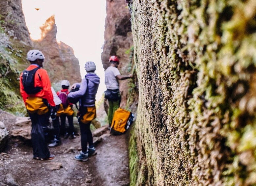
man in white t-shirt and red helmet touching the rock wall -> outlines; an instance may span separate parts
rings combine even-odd
[[[118,109],[121,102],[121,95],[119,91],[118,80],[125,80],[132,78],[132,74],[121,75],[118,70],[119,59],[117,56],[111,56],[109,58],[110,66],[105,70],[105,85],[107,90],[105,91],[105,98],[108,100],[108,123],[109,127],[113,119],[114,112]]]

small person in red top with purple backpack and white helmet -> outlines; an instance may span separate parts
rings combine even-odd
[[[73,104],[68,100],[69,94],[69,86],[70,82],[66,79],[61,81],[62,89],[57,92],[57,95],[60,97],[62,101],[62,105],[64,107],[64,113],[60,115],[61,126],[60,133],[64,136],[64,139],[67,139],[70,136],[70,139],[74,139],[76,136],[74,135],[74,124],[73,124]],[[69,128],[66,129],[66,117],[68,118]]]

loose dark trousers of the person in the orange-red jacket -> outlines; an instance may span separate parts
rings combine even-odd
[[[31,139],[34,158],[48,158],[50,151],[45,138],[47,136],[49,114],[38,115],[29,113],[29,116],[32,122]]]

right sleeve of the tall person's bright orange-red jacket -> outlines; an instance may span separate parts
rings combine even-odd
[[[53,95],[52,95],[52,92],[51,92],[51,82],[50,82],[50,78],[48,76],[47,71],[40,68],[38,70],[38,73],[41,76],[45,99],[47,99],[50,106],[53,106],[53,107],[56,106],[54,101],[53,101]]]

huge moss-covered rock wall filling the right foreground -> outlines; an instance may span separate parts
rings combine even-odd
[[[255,17],[254,0],[133,0],[131,185],[256,184]]]

